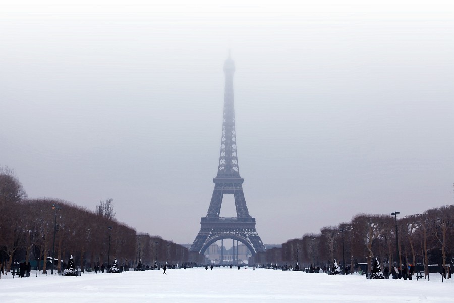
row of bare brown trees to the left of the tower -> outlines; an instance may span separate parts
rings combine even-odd
[[[113,218],[112,199],[100,201],[95,212],[58,199],[27,199],[13,172],[0,167],[0,264],[7,273],[12,262],[36,260],[45,272],[53,253],[56,260],[73,255],[84,268],[112,263],[134,267],[138,259],[185,262],[181,245],[137,234]],[[157,260],[156,260],[157,257]],[[109,260],[108,260],[109,259]],[[60,271],[62,262],[56,263]]]

